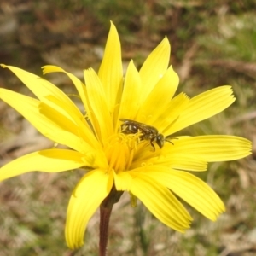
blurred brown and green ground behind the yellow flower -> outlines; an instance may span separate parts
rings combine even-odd
[[[165,36],[171,63],[180,77],[178,91],[195,96],[231,84],[236,102],[224,113],[192,125],[184,134],[232,134],[255,142],[256,3],[254,0],[68,0],[0,3],[0,62],[42,75],[54,64],[83,79],[83,69],[99,67],[109,20],[117,26],[124,67],[140,67]],[[47,75],[67,93],[63,75]],[[0,70],[0,87],[26,95],[20,80]],[[52,143],[0,102],[0,166]],[[194,209],[194,222],[178,234],[143,205],[123,196],[113,209],[108,255],[247,256],[256,254],[255,148],[244,160],[209,165],[200,177],[224,200],[227,211],[212,223]],[[91,219],[84,247],[70,251],[64,238],[69,196],[81,172],[32,172],[0,183],[0,256],[97,255],[99,216]]]

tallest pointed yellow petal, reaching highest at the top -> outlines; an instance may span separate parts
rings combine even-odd
[[[112,22],[98,75],[107,97],[108,111],[112,115],[119,103],[123,82],[121,45],[118,32]]]

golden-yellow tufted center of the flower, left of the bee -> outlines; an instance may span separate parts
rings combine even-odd
[[[110,137],[104,147],[109,168],[115,172],[129,170],[138,143],[137,134],[119,133]]]

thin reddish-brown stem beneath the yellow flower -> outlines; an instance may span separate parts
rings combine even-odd
[[[102,201],[100,207],[100,242],[99,242],[99,255],[107,255],[108,245],[108,225],[112,212],[113,204],[119,201],[124,191],[117,191],[113,186],[108,196]]]

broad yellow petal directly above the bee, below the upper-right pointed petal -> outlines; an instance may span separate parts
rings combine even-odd
[[[177,90],[178,76],[172,66],[169,67],[163,77],[151,90],[137,115],[137,120],[143,123],[153,124],[159,118],[159,113],[166,109],[171,102],[172,96]]]

